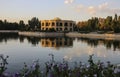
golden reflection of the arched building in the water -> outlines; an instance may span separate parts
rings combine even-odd
[[[42,47],[72,47],[73,39],[68,37],[58,37],[58,38],[42,38],[41,39]]]

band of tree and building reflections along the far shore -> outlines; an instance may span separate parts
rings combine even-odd
[[[30,37],[30,36],[19,36],[17,33],[0,33],[0,42],[6,42],[9,40],[19,40],[20,43],[24,43],[27,40],[30,44],[36,46],[41,44],[42,47],[73,47],[75,38],[70,37],[52,37],[52,38],[41,38],[41,37]],[[120,41],[110,39],[90,39],[90,38],[77,38],[78,42],[87,43],[91,47],[97,47],[99,45],[105,46],[107,49],[113,49],[116,51],[120,50]]]

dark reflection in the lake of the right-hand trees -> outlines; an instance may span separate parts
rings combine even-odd
[[[113,49],[113,51],[116,51],[116,49],[120,50],[120,41],[117,40],[110,40],[110,39],[90,39],[90,38],[77,38],[78,41],[87,43],[91,47],[97,47],[98,45],[104,45],[107,49]]]

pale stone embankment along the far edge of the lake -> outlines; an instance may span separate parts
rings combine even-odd
[[[105,40],[120,40],[120,34],[98,34],[98,33],[78,33],[78,32],[21,32],[21,31],[5,31],[2,30],[0,33],[18,33],[22,36],[33,36],[33,37],[72,37],[72,38],[90,38],[90,39],[105,39]]]

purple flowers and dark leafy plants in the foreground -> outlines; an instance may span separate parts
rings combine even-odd
[[[75,66],[71,68],[65,60],[56,62],[54,55],[49,54],[51,60],[45,63],[45,70],[40,70],[39,60],[29,67],[24,63],[24,67],[20,72],[15,74],[5,73],[7,67],[7,58],[0,56],[0,77],[120,77],[120,67],[111,64],[109,61],[105,64],[101,61],[95,63],[93,55],[89,56],[88,64],[75,62]]]

